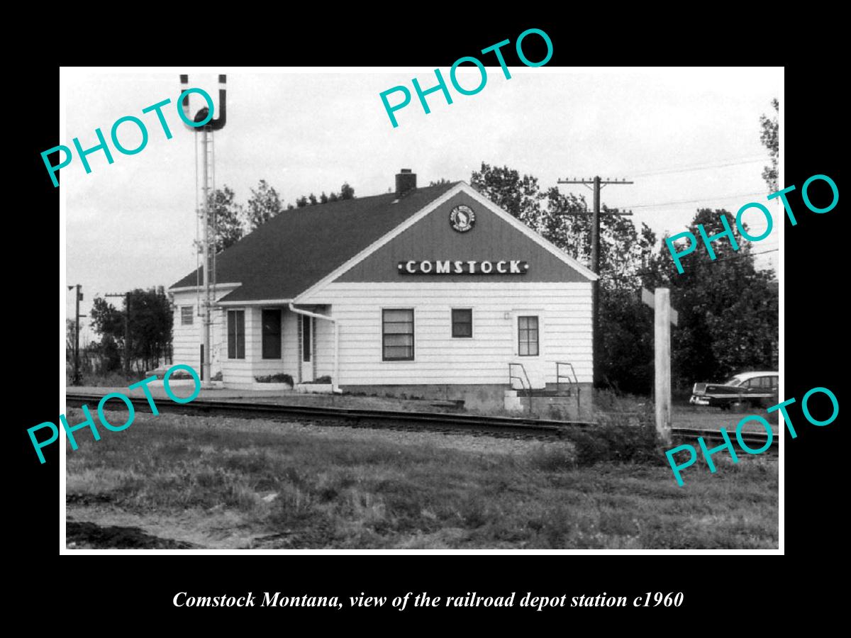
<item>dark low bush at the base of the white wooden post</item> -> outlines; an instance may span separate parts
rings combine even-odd
[[[597,425],[576,430],[569,438],[576,446],[576,464],[580,467],[602,461],[665,464],[665,453],[648,414],[601,416]]]

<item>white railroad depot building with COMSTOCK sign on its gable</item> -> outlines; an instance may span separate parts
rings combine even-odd
[[[590,404],[596,275],[465,182],[417,188],[403,169],[395,192],[283,211],[216,261],[212,374],[228,388],[288,373],[517,408],[506,390],[528,383]],[[200,374],[199,281],[170,292],[174,363]]]

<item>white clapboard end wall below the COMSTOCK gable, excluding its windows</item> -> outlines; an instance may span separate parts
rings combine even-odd
[[[508,363],[518,362],[541,387],[556,382],[557,361],[591,382],[588,282],[331,283],[303,302],[330,305],[340,323],[340,385],[507,385]],[[414,361],[381,360],[382,308],[414,308]],[[452,338],[453,308],[473,310],[472,339]],[[517,355],[517,316],[526,314],[539,316],[540,356]],[[319,375],[333,367],[333,339],[318,322]]]

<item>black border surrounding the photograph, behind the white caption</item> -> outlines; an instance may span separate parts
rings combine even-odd
[[[420,19],[409,18],[408,12],[424,14]],[[763,14],[764,11],[764,14]],[[214,52],[203,64],[214,66],[221,61],[237,60],[243,64],[326,64],[326,65],[415,65],[449,66],[463,54],[470,54],[505,37],[516,37],[528,26],[538,26],[547,31],[555,45],[551,66],[566,65],[620,65],[625,62],[647,65],[715,64],[786,64],[785,83],[785,185],[802,184],[812,174],[828,174],[835,179],[839,190],[840,155],[845,152],[843,141],[843,115],[837,78],[844,70],[838,66],[838,56],[831,43],[843,43],[843,37],[833,37],[829,26],[822,20],[817,26],[802,20],[789,25],[788,20],[774,20],[768,8],[751,10],[737,6],[735,10],[721,7],[701,12],[700,21],[686,20],[683,16],[665,15],[664,28],[658,31],[642,30],[637,26],[653,20],[648,8],[623,9],[620,20],[609,20],[602,26],[602,16],[594,8],[575,8],[571,13],[527,15],[526,9],[512,14],[511,18],[487,22],[464,22],[454,14],[444,14],[423,6],[404,6],[386,9],[381,16],[386,25],[376,20],[363,24],[363,12],[348,16],[340,13],[336,20],[305,23],[301,18],[294,25],[258,24],[256,15],[249,19],[235,17],[229,29],[237,43],[251,39],[251,46],[241,48],[243,53]],[[427,19],[431,14],[433,20]],[[357,17],[359,20],[353,22]],[[611,16],[607,16],[611,18]],[[822,16],[824,17],[824,16]],[[839,22],[837,20],[837,22]],[[65,42],[66,30],[87,32],[97,29],[91,24],[74,26],[62,21],[63,33],[48,30],[40,34],[42,42]],[[357,24],[357,29],[352,25]],[[57,25],[58,26],[58,25]],[[771,28],[772,26],[776,28]],[[321,28],[320,28],[321,27]],[[604,29],[604,30],[603,30]],[[591,35],[583,35],[591,31]],[[788,31],[799,31],[790,35]],[[62,64],[91,64],[92,55],[107,56],[106,64],[121,66],[168,65],[175,50],[175,33],[171,28],[155,29],[150,41],[134,53],[77,48],[63,53]],[[283,37],[282,37],[283,34]],[[744,34],[749,34],[745,37]],[[56,36],[56,37],[51,37]],[[263,44],[266,42],[266,44]],[[475,43],[470,45],[468,43]],[[228,47],[230,49],[230,47]],[[676,56],[676,57],[674,57]],[[750,56],[750,57],[747,57]],[[157,59],[158,57],[158,59]],[[791,60],[794,58],[794,60]],[[98,60],[100,61],[100,60]],[[202,60],[191,60],[201,63]],[[31,64],[38,64],[31,62]],[[509,60],[509,64],[512,62]],[[842,75],[841,75],[842,74]],[[44,60],[40,68],[31,67],[12,86],[28,86],[31,77],[40,80],[38,100],[20,110],[15,134],[21,137],[20,146],[28,149],[16,155],[23,158],[21,172],[29,182],[26,191],[14,188],[14,196],[22,197],[17,210],[37,214],[15,214],[12,219],[14,236],[43,237],[43,221],[58,209],[58,189],[46,181],[43,164],[38,153],[57,144],[54,122],[58,103],[58,70],[53,60]],[[792,199],[800,209],[800,200]],[[814,215],[806,211],[798,216],[799,224],[792,228],[785,224],[785,280],[782,284],[785,297],[785,389],[786,396],[800,397],[814,385],[833,390],[840,402],[844,377],[840,348],[844,342],[845,311],[843,288],[847,272],[841,244],[846,233],[840,206],[830,214]],[[23,303],[18,305],[12,296],[18,292],[8,289],[8,301],[18,309],[43,307],[45,297],[40,284],[43,274],[53,281],[53,266],[49,277],[47,262],[24,261],[26,288]],[[36,261],[36,263],[32,263]],[[60,267],[62,265],[60,264]],[[18,271],[18,269],[16,269]],[[20,271],[18,271],[20,272]],[[53,298],[55,299],[55,298]],[[27,312],[25,334],[27,350],[15,358],[14,374],[25,379],[24,387],[15,387],[18,401],[11,406],[12,431],[19,436],[19,464],[12,483],[15,521],[18,523],[14,545],[15,554],[26,557],[24,567],[15,568],[12,575],[14,587],[20,598],[28,599],[25,606],[31,611],[43,612],[49,603],[44,602],[47,590],[59,583],[60,599],[89,604],[95,596],[98,613],[106,618],[116,613],[133,618],[134,627],[173,627],[174,624],[191,624],[194,629],[216,627],[228,619],[237,618],[240,629],[259,618],[246,610],[182,610],[171,605],[172,596],[180,590],[191,589],[219,595],[223,592],[238,594],[242,590],[255,593],[262,590],[288,590],[293,593],[322,595],[349,595],[368,591],[370,595],[397,595],[408,590],[429,590],[437,595],[477,590],[479,593],[532,590],[536,593],[562,592],[568,595],[601,593],[638,595],[647,590],[684,591],[686,603],[677,610],[628,612],[627,622],[634,628],[637,623],[648,628],[671,630],[671,622],[682,619],[676,630],[690,631],[697,618],[710,618],[718,629],[728,631],[724,625],[731,615],[744,609],[752,611],[748,625],[760,628],[782,621],[786,614],[815,612],[820,616],[832,607],[831,598],[837,598],[840,588],[827,577],[826,566],[841,555],[844,543],[842,527],[837,519],[844,502],[845,476],[842,461],[831,452],[842,451],[841,420],[830,426],[816,428],[802,424],[798,437],[786,436],[785,446],[785,553],[790,561],[782,564],[777,557],[742,555],[643,555],[643,556],[589,556],[589,555],[449,555],[449,556],[378,556],[378,555],[276,555],[262,559],[243,556],[203,556],[191,560],[191,566],[164,565],[172,557],[155,560],[134,560],[132,566],[117,561],[133,560],[124,556],[97,558],[89,556],[60,557],[58,555],[57,494],[59,479],[58,447],[45,449],[47,463],[38,464],[32,454],[26,427],[40,421],[56,418],[58,407],[53,400],[53,390],[45,395],[53,368],[56,334],[51,311]],[[45,338],[46,335],[46,338]],[[21,396],[23,395],[23,396]],[[799,410],[791,410],[796,424],[802,421]],[[99,562],[98,568],[88,564],[72,565],[70,561]],[[57,560],[59,559],[59,560]],[[831,560],[833,559],[833,560]],[[237,562],[238,561],[238,562]],[[769,563],[769,561],[771,561]],[[806,564],[801,564],[806,561]],[[106,566],[104,563],[108,563]],[[106,568],[104,568],[106,567]],[[116,569],[120,568],[120,571]],[[821,570],[821,571],[820,571]],[[812,590],[817,589],[817,592]],[[87,594],[88,592],[88,594]],[[113,595],[115,593],[118,595]],[[796,596],[801,596],[800,600]],[[786,604],[780,604],[780,601]],[[89,601],[89,602],[87,602]],[[812,606],[812,607],[811,607]],[[818,606],[814,609],[814,606]],[[25,607],[25,608],[26,608]],[[23,611],[23,610],[21,610]],[[535,620],[556,620],[559,628],[573,628],[562,624],[577,618],[590,621],[595,627],[605,620],[617,623],[624,618],[620,613],[601,610],[571,610],[561,612],[524,612],[512,608],[506,613],[482,610],[420,610],[412,618],[407,612],[393,612],[382,608],[357,610],[345,616],[334,616],[311,610],[297,612],[300,618],[321,618],[323,628],[334,618],[351,623],[359,619],[369,626],[388,626],[396,632],[408,629],[410,620],[427,627],[435,619],[443,630],[456,625],[445,624],[445,618],[455,617],[462,622],[475,618],[499,624],[500,629],[528,629]],[[263,618],[275,622],[277,629],[289,628],[293,612],[276,610]],[[569,615],[565,616],[567,613]],[[241,615],[242,614],[242,615]],[[250,615],[249,615],[250,614]],[[366,615],[364,615],[366,614]],[[673,614],[676,618],[671,618]],[[377,624],[376,615],[390,620]],[[768,618],[767,618],[768,617]],[[69,624],[83,622],[83,614],[67,617]],[[105,618],[105,619],[106,619]],[[100,618],[97,619],[99,625]],[[407,621],[407,622],[406,622]],[[89,622],[92,622],[90,619]],[[125,621],[126,622],[126,621]],[[163,625],[168,622],[168,625]],[[375,623],[375,624],[373,624]],[[373,624],[373,625],[370,625]],[[252,625],[248,625],[252,626]],[[462,625],[458,625],[460,627]],[[477,629],[484,625],[477,624]],[[611,625],[608,625],[611,628]],[[722,629],[723,628],[723,629]],[[114,627],[112,628],[114,629]]]

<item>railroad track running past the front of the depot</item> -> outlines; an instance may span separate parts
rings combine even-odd
[[[101,396],[70,392],[66,394],[69,407],[93,406]],[[139,412],[151,412],[146,398],[129,397]],[[110,409],[123,409],[123,402],[111,402]],[[346,425],[359,428],[379,428],[405,431],[432,431],[441,434],[471,434],[513,439],[538,439],[558,441],[568,438],[571,431],[592,427],[591,421],[556,421],[529,419],[528,417],[492,417],[479,414],[456,414],[434,412],[404,412],[393,410],[368,410],[350,407],[291,406],[260,402],[227,402],[196,399],[191,403],[174,403],[158,399],[157,410],[163,413],[196,414],[201,416],[222,415],[241,419],[298,419],[323,425]],[[718,430],[694,428],[672,428],[677,441],[696,443],[698,436],[705,441],[723,441]],[[765,436],[743,434],[742,440],[748,447],[758,449],[765,444]],[[777,451],[774,436],[770,452]]]

